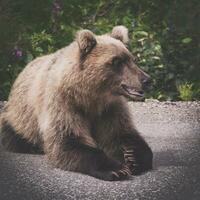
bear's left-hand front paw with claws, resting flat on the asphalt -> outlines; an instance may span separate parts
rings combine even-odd
[[[125,180],[131,175],[131,170],[127,165],[122,165],[121,169],[112,171],[113,180]]]

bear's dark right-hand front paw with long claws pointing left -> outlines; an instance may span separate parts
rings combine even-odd
[[[152,169],[152,150],[136,130],[121,136],[121,147],[125,163],[133,174]]]

